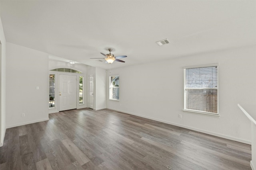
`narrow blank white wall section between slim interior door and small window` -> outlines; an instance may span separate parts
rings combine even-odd
[[[96,110],[106,109],[106,70],[96,67]]]

